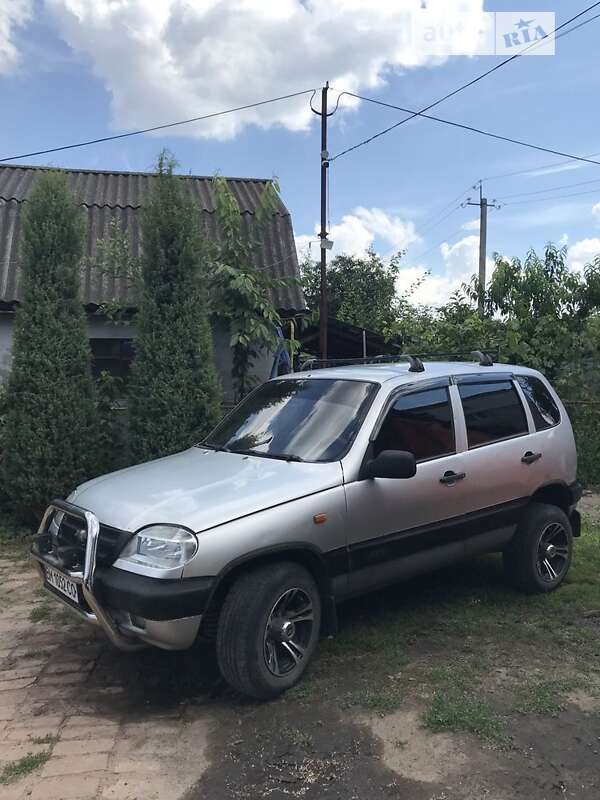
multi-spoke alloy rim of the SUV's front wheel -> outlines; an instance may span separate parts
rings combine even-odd
[[[287,589],[273,605],[265,628],[263,651],[269,672],[288,675],[306,656],[314,624],[312,600],[304,589]]]

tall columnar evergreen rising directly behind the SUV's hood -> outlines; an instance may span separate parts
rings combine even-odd
[[[130,445],[136,461],[201,440],[220,414],[208,318],[207,245],[200,213],[166,153],[142,215],[142,291],[129,381]]]

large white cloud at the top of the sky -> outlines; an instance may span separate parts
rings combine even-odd
[[[373,89],[398,70],[444,61],[408,35],[420,0],[45,0],[45,7],[110,92],[119,129],[319,87],[326,78],[336,88]],[[428,13],[440,24],[460,13],[468,24],[456,27],[452,47],[476,51],[483,0],[432,0]],[[356,102],[345,97],[343,106]],[[306,130],[314,119],[304,96],[172,133],[227,139],[248,124]]]

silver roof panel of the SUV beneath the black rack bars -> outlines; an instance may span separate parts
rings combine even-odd
[[[288,375],[282,375],[277,380],[299,377],[334,378],[336,380],[371,381],[379,384],[394,381],[395,384],[402,384],[427,381],[431,378],[444,378],[450,375],[480,374],[482,378],[497,373],[506,374],[512,372],[518,372],[519,375],[539,375],[536,370],[515,364],[494,364],[491,367],[483,367],[476,361],[424,361],[423,366],[425,368],[423,372],[410,372],[408,361],[386,364],[352,364],[345,367],[326,367],[324,369],[292,372]]]

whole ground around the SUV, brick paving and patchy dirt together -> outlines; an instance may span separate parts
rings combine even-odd
[[[600,496],[544,597],[478,559],[347,603],[266,704],[208,645],[117,652],[0,554],[2,800],[600,797]]]

